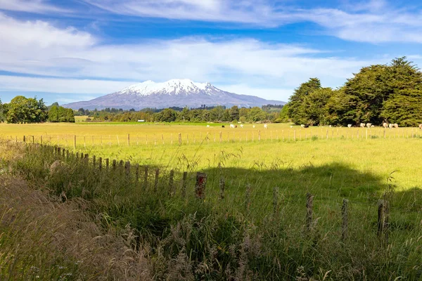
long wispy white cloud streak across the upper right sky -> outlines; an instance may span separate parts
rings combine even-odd
[[[280,26],[314,22],[350,41],[422,43],[422,11],[386,0],[350,1],[332,8],[298,8],[270,0],[84,0],[110,13],[139,17]],[[287,2],[288,3],[288,2]]]

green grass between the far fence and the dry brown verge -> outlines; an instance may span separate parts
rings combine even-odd
[[[420,280],[421,143],[378,137],[79,147],[96,155],[96,166],[11,142],[0,154],[4,174],[63,204],[83,200],[84,214],[98,218],[102,233],[126,237],[131,229],[129,247],[148,261],[155,280]],[[119,166],[100,170],[98,157],[130,161],[132,169],[128,176]],[[63,164],[52,172],[58,159]],[[203,200],[194,196],[196,171],[207,174]],[[314,195],[309,225],[307,192]],[[343,199],[349,204],[342,239]],[[390,202],[388,240],[377,235],[380,199]],[[1,254],[1,268],[10,268],[13,259]]]

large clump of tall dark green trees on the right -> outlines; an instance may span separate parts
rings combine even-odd
[[[422,123],[422,72],[403,57],[388,65],[363,67],[338,89],[311,78],[295,89],[281,115],[309,126],[417,126]]]

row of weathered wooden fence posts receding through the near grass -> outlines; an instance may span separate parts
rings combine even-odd
[[[23,138],[23,140],[27,141],[27,138]],[[91,155],[89,157],[88,154],[84,154],[83,152],[70,152],[66,148],[60,148],[57,145],[47,145],[47,144],[39,144],[39,143],[32,143],[32,142],[19,142],[23,143],[28,146],[32,146],[37,149],[45,149],[51,155],[53,155],[53,159],[56,159],[56,162],[63,162],[63,161],[80,161],[82,164],[87,166],[87,169],[94,169],[95,171],[98,171],[98,173],[115,173],[113,176],[121,176],[125,179],[125,181],[129,181],[131,186],[134,186],[134,188],[140,188],[143,191],[151,190],[153,192],[158,192],[158,188],[165,188],[167,190],[161,190],[165,191],[167,195],[174,197],[178,194],[182,198],[186,198],[186,188],[188,185],[188,172],[183,171],[182,177],[179,179],[179,184],[177,184],[177,179],[174,178],[174,169],[171,169],[168,171],[161,171],[160,169],[155,169],[155,177],[150,177],[149,172],[151,169],[148,169],[149,166],[144,166],[143,169],[143,183],[139,185],[139,178],[141,177],[141,170],[139,164],[135,164],[134,169],[131,169],[131,163],[129,161],[123,162],[122,160],[117,161],[116,159],[113,159],[113,165],[111,169],[108,166],[109,159],[105,159],[103,161],[103,158],[96,157],[96,155]],[[79,156],[80,155],[80,156]],[[106,163],[106,166],[103,166],[103,163]],[[118,163],[118,165],[117,165]],[[54,164],[51,165],[53,167]],[[53,168],[51,168],[53,169]],[[210,181],[208,179],[207,174],[203,172],[196,172],[196,183],[194,185],[194,190],[191,195],[192,197],[196,198],[196,200],[200,200],[200,202],[205,202],[205,195],[207,193],[206,185],[207,181]],[[167,180],[167,185],[162,184],[159,185],[159,183],[164,183],[164,179]],[[217,182],[219,185],[219,192],[215,193],[215,195],[218,197],[218,200],[226,200],[227,195],[224,194],[224,185],[225,180],[222,174],[217,173],[218,180],[217,181],[210,181],[210,182]],[[153,185],[151,185],[149,182],[153,181]],[[151,188],[150,188],[151,186]],[[179,188],[178,188],[179,187]],[[246,185],[245,188],[245,194],[244,194],[244,209],[245,214],[248,215],[250,210],[252,209],[252,201],[251,199],[251,190],[252,185],[249,183]],[[237,196],[237,195],[236,195]],[[307,193],[304,196],[306,206],[304,206],[304,226],[306,233],[312,233],[314,231],[314,228],[316,226],[316,223],[319,221],[318,219],[314,219],[314,201],[315,195],[312,195],[311,193]],[[349,237],[348,228],[349,228],[349,213],[348,208],[351,203],[349,200],[343,199],[343,204],[341,205],[340,209],[338,209],[338,215],[341,217],[341,223],[339,224],[339,237],[338,239],[341,240],[341,242],[346,243],[347,238]],[[279,212],[279,188],[275,187],[273,190],[273,216],[274,218],[277,218]],[[374,212],[375,213],[375,212]],[[387,200],[379,200],[378,201],[378,209],[376,209],[376,214],[373,214],[374,216],[378,217],[377,222],[377,228],[374,233],[374,235],[377,235],[381,241],[382,244],[388,244],[388,237],[391,232],[390,224],[389,224],[389,218],[390,218],[390,204]]]

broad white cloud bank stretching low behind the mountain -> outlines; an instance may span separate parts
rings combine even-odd
[[[127,80],[189,78],[229,85],[227,89],[232,85],[237,93],[244,90],[287,100],[287,90],[309,77],[319,77],[325,86],[340,86],[360,67],[385,63],[335,58],[306,46],[267,44],[255,39],[210,41],[187,37],[139,44],[100,44],[91,34],[72,27],[20,21],[1,13],[0,37],[6,42],[0,45],[0,70],[61,77],[3,76],[2,91],[104,94],[127,86]],[[80,80],[87,77],[88,80]],[[248,89],[238,85],[248,85]],[[285,90],[280,93],[270,89]]]

